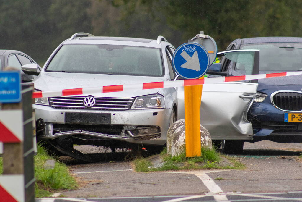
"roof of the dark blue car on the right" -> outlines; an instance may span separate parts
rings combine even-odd
[[[254,37],[241,39],[241,44],[259,44],[273,42],[302,43],[302,37]]]

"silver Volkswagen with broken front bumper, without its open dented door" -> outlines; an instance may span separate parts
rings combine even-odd
[[[76,33],[50,55],[39,77],[37,91],[98,87],[173,80],[175,48],[157,40],[95,37]],[[177,117],[175,88],[149,89],[79,96],[37,98],[34,109],[37,138],[75,158],[72,146],[132,148],[159,151],[170,123]],[[85,160],[85,159],[84,159]]]

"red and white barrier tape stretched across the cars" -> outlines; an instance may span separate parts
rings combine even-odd
[[[208,84],[208,83],[245,81],[245,80],[265,79],[265,78],[273,78],[273,77],[285,77],[285,76],[301,75],[301,74],[302,71],[298,71],[298,72],[256,74],[256,75],[235,76],[235,77],[217,77],[217,78],[189,79],[189,80],[178,80],[178,81],[160,81],[160,82],[150,82],[150,83],[124,84],[124,85],[114,85],[114,86],[74,88],[74,89],[64,89],[64,90],[56,90],[56,91],[34,92],[32,97],[40,98],[40,97],[54,97],[54,96],[68,96],[68,95],[83,95],[83,94],[92,94],[92,93],[121,92],[127,90],[144,90],[144,89],[153,89],[153,88],[195,86],[195,85]]]

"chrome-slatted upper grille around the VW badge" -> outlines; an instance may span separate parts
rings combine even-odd
[[[134,98],[95,97],[95,106],[88,108],[83,104],[84,98],[83,96],[50,97],[49,102],[53,108],[127,110],[134,100]]]

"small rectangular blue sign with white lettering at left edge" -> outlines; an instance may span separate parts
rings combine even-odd
[[[21,101],[20,72],[0,71],[0,103]]]

